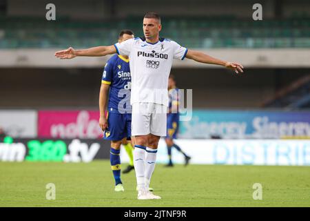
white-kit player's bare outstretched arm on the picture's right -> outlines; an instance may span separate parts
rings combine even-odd
[[[239,71],[240,71],[240,73],[243,73],[243,70],[242,70],[243,66],[241,64],[238,64],[236,62],[222,61],[220,59],[216,59],[214,57],[206,55],[203,52],[200,52],[197,50],[188,50],[186,57],[188,59],[192,59],[192,60],[198,61],[200,63],[217,64],[220,66],[225,66],[226,68],[234,70],[237,74],[239,73]]]

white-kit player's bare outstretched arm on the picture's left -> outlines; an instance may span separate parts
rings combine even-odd
[[[112,55],[115,53],[115,46],[98,46],[81,50],[75,50],[74,48],[70,47],[65,50],[56,51],[55,57],[58,57],[60,59],[72,59],[76,56],[99,57],[105,55]]]

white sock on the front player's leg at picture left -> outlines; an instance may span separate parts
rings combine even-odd
[[[138,146],[138,147],[137,147]],[[144,162],[145,162],[145,146],[134,146],[134,171],[136,171],[136,183],[139,191],[145,190]]]

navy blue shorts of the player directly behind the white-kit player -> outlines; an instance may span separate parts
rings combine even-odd
[[[103,133],[104,140],[130,140],[132,135],[132,115],[107,113],[107,129]]]

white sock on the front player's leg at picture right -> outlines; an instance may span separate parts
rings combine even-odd
[[[149,190],[149,182],[151,181],[153,171],[156,164],[157,149],[147,147],[145,151],[145,189]]]

